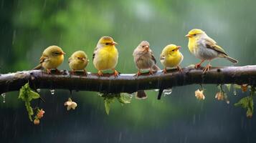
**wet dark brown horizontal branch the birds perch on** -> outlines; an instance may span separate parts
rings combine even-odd
[[[167,89],[189,84],[256,84],[256,66],[226,66],[213,67],[203,74],[202,69],[186,67],[182,72],[171,69],[167,74],[157,71],[153,75],[82,73],[70,75],[69,71],[46,74],[45,71],[17,71],[0,75],[0,93],[19,91],[29,82],[32,89],[68,89],[77,91],[93,91],[119,93],[133,93],[138,90]]]

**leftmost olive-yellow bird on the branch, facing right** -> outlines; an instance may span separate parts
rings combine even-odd
[[[47,49],[44,49],[42,56],[40,58],[40,64],[34,69],[47,69],[47,74],[51,73],[51,69],[57,69],[64,60],[65,52],[59,46],[49,46]]]

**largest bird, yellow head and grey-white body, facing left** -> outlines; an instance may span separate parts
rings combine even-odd
[[[208,71],[211,67],[210,61],[215,58],[225,58],[234,64],[238,62],[237,59],[228,56],[224,49],[217,45],[217,42],[207,36],[201,29],[192,29],[186,37],[189,38],[189,51],[194,54],[196,58],[201,59],[200,63],[196,64],[195,68],[198,68],[205,60],[208,60],[209,64],[204,68],[204,72]]]

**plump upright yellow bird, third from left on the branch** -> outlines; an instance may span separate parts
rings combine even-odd
[[[98,75],[103,76],[103,70],[112,69],[114,76],[117,77],[119,72],[115,70],[118,64],[118,49],[112,37],[103,36],[93,52],[93,65],[98,69]]]

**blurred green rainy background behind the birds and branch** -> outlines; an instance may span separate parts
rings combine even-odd
[[[0,70],[4,74],[32,69],[47,46],[58,45],[66,52],[59,69],[68,69],[68,57],[83,50],[90,57],[87,71],[96,72],[93,50],[105,35],[118,42],[116,69],[121,73],[136,73],[132,53],[142,40],[150,42],[156,59],[167,44],[182,46],[181,66],[188,66],[199,61],[189,53],[184,37],[194,28],[206,31],[238,59],[236,66],[255,64],[255,5],[253,0],[0,0]],[[232,66],[224,59],[212,65]],[[147,92],[148,99],[133,99],[125,106],[116,101],[110,115],[95,92],[57,90],[52,96],[44,89],[46,103],[40,107],[46,113],[39,126],[29,122],[19,93],[6,93],[6,103],[2,98],[0,102],[0,141],[256,142],[255,119],[247,119],[245,110],[233,106],[248,93],[228,92],[226,104],[214,99],[216,85],[204,85],[206,99],[199,102],[194,97],[199,87],[176,87],[161,101],[154,91]],[[63,106],[68,97],[78,104],[74,111]]]

